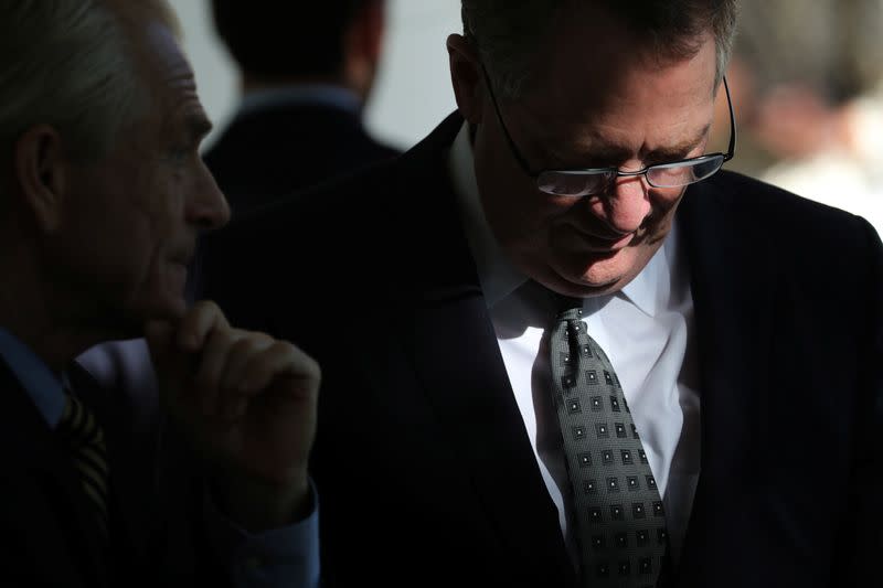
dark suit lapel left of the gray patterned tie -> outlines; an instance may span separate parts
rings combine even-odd
[[[447,125],[445,147],[460,121],[443,125]],[[421,267],[426,270],[418,271],[416,286],[402,285],[413,288],[403,302],[409,309],[401,324],[408,339],[406,349],[413,352],[440,423],[456,431],[455,450],[512,560],[521,563],[525,577],[533,577],[536,585],[567,586],[575,576],[557,511],[533,459],[475,264],[459,229],[446,156],[446,148],[437,148],[426,161],[411,165],[422,178],[421,185],[427,184],[426,178],[435,181],[434,189],[422,194],[421,214],[413,216],[432,221],[409,237],[422,244]]]

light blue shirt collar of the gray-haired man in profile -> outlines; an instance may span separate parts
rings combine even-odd
[[[64,411],[65,395],[62,381],[33,351],[2,328],[0,328],[0,357],[12,370],[49,426],[54,429]]]

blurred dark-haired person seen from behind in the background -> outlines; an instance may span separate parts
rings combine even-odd
[[[205,153],[234,216],[396,151],[365,130],[385,0],[212,0],[243,99]]]

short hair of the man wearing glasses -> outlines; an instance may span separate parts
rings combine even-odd
[[[717,87],[730,62],[740,0],[462,0],[464,35],[476,43],[500,97],[518,98],[524,92],[555,18],[576,1],[606,10],[664,56],[692,56],[698,39],[711,31]]]

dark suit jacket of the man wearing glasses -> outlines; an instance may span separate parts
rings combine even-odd
[[[460,125],[204,244],[204,293],[322,366],[312,475],[329,585],[575,585],[448,179]],[[728,172],[678,214],[702,471],[671,584],[879,582],[879,237]]]

